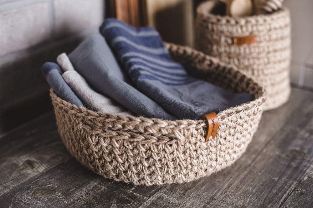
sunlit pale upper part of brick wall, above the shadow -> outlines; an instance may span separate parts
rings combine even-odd
[[[104,0],[0,0],[0,56],[99,26]]]

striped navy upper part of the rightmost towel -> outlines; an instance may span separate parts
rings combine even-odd
[[[152,28],[135,29],[115,19],[101,27],[107,43],[117,53],[132,80],[157,80],[165,85],[184,85],[195,81],[182,65],[175,63]]]

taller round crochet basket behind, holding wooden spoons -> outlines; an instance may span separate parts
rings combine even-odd
[[[271,14],[220,16],[216,0],[197,8],[196,48],[235,65],[267,91],[264,110],[287,102],[290,95],[290,14],[282,7]],[[214,13],[214,14],[213,14]]]

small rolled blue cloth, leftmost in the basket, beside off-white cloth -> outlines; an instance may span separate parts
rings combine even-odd
[[[83,103],[62,78],[63,71],[59,65],[53,62],[46,62],[41,70],[50,87],[60,98],[74,105],[83,106]]]

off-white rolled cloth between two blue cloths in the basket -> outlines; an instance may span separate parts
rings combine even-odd
[[[74,70],[72,63],[65,53],[58,56],[57,61],[63,66],[62,68],[65,71],[62,77],[75,94],[77,94],[77,96],[83,101],[84,105],[92,110],[101,111],[103,113],[132,115],[112,99],[91,89],[86,80]]]

